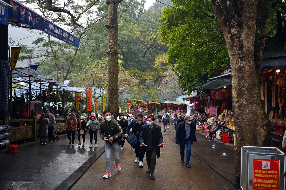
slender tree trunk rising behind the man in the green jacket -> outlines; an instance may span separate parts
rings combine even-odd
[[[108,109],[115,116],[118,113],[118,23],[117,9],[122,0],[108,0]]]

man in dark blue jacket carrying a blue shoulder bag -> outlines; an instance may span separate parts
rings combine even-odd
[[[143,167],[143,158],[145,155],[145,152],[143,151],[142,147],[140,147],[140,142],[139,142],[139,135],[141,131],[142,125],[145,125],[146,122],[143,122],[143,115],[139,114],[137,116],[137,119],[133,119],[129,125],[127,126],[126,132],[124,134],[125,137],[128,136],[130,128],[132,128],[132,132],[134,135],[137,137],[137,144],[135,146],[135,154],[136,154],[136,159],[135,162],[139,162],[139,167]]]

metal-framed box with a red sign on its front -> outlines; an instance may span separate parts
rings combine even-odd
[[[284,190],[285,162],[278,148],[241,146],[241,189]]]

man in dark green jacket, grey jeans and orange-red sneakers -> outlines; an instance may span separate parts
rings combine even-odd
[[[100,123],[100,137],[105,141],[105,166],[106,174],[103,178],[111,177],[111,148],[113,148],[113,156],[116,170],[119,172],[121,170],[119,166],[119,144],[118,138],[122,135],[123,130],[120,124],[111,119],[111,111],[105,110],[103,112],[105,121]]]

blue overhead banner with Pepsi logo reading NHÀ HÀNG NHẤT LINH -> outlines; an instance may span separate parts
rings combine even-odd
[[[20,21],[37,30],[41,30],[59,40],[62,40],[63,42],[79,48],[80,39],[78,37],[63,30],[21,3],[15,0],[10,0],[10,3],[12,5],[12,9],[9,9],[9,18]]]

